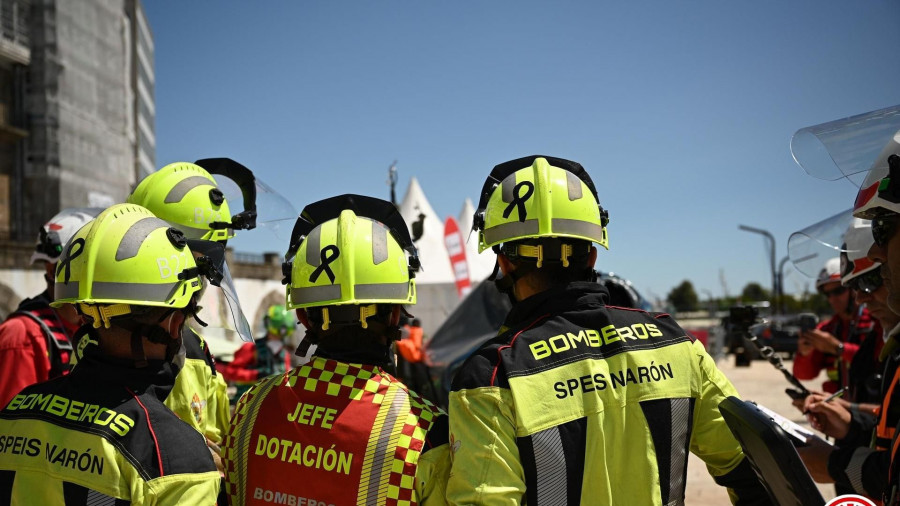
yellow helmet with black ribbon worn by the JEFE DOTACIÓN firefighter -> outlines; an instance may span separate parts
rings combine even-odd
[[[393,204],[332,197],[306,206],[294,225],[283,267],[287,307],[363,305],[365,326],[374,304],[415,304],[418,269],[409,229]]]

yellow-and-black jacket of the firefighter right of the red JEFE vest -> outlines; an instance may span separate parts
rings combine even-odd
[[[719,413],[737,395],[665,314],[571,283],[510,312],[450,394],[451,504],[678,505],[688,451],[736,504],[768,497]]]

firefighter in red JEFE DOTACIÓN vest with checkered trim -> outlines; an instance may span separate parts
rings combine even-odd
[[[285,256],[287,307],[312,360],[253,386],[225,441],[232,506],[441,504],[446,416],[387,372],[416,249],[393,204],[360,195],[306,206]],[[296,478],[291,478],[296,477]]]

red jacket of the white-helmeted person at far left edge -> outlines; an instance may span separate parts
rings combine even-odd
[[[70,333],[76,325],[63,321]],[[50,379],[47,338],[40,325],[27,316],[12,315],[0,323],[0,406],[6,406],[20,390]]]

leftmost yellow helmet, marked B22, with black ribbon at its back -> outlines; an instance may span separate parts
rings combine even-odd
[[[131,306],[185,308],[200,289],[200,269],[182,233],[141,206],[117,204],[66,244],[52,305],[76,304],[95,327],[108,327]]]

